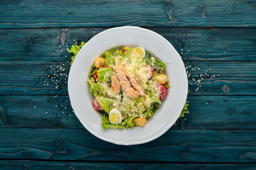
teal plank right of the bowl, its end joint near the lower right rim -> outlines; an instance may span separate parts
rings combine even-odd
[[[256,129],[256,96],[189,96],[186,129]]]

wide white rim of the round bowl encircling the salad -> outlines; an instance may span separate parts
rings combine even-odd
[[[169,84],[167,96],[159,110],[144,127],[108,129],[103,131],[101,115],[92,107],[92,94],[87,83],[88,73],[94,59],[115,46],[137,46],[152,51],[166,63]],[[173,46],[161,35],[139,27],[124,26],[111,28],[95,35],[81,48],[70,69],[68,94],[74,113],[85,128],[102,140],[119,144],[142,144],[164,134],[176,120],[186,102],[188,79],[184,63]]]

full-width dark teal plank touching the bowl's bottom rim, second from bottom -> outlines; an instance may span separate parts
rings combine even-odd
[[[146,144],[119,146],[85,129],[1,128],[0,159],[255,162],[255,136],[254,130],[173,130]]]

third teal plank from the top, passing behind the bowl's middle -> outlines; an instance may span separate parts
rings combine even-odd
[[[190,95],[256,95],[256,62],[185,61],[185,65],[192,66],[188,69]],[[67,62],[2,61],[0,94],[66,95],[69,69]],[[56,70],[59,72],[54,73]],[[200,87],[197,81],[201,78]]]

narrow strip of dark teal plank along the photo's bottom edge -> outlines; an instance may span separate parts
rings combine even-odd
[[[255,163],[90,163],[90,162],[63,162],[63,161],[16,161],[1,160],[1,170],[253,170]]]

